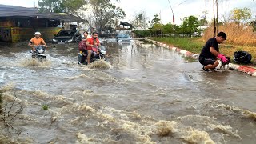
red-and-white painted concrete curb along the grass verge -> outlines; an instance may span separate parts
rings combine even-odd
[[[145,38],[145,40],[148,41],[148,42],[152,42],[152,43],[154,43],[158,46],[163,46],[163,47],[165,47],[169,50],[174,50],[178,53],[181,53],[181,54],[185,55],[186,57],[191,57],[191,58],[196,58],[196,59],[198,59],[198,57],[199,57],[199,54],[194,54],[194,53],[191,53],[190,51],[182,50],[178,47],[168,46],[164,43],[156,42],[156,41],[153,41],[153,40],[148,39],[148,38]],[[229,66],[230,66],[231,69],[242,71],[243,73],[249,74],[251,76],[256,76],[256,69],[254,67],[240,66],[240,65],[237,65],[237,64],[234,64],[234,63],[230,63]]]

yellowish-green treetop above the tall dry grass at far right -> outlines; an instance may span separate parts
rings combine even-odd
[[[231,11],[231,18],[234,20],[234,22],[246,23],[251,18],[251,16],[251,10],[246,7],[243,9],[234,8]]]

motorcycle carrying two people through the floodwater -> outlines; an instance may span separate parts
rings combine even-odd
[[[101,44],[101,46],[98,47],[98,52],[99,52],[99,54],[96,54],[97,51],[93,51],[93,54],[90,57],[90,62],[98,61],[101,59],[105,60],[106,46]],[[78,53],[78,64],[87,65],[86,57],[87,57],[86,53],[84,53],[84,52]]]

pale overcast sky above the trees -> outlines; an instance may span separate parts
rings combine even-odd
[[[208,19],[213,18],[213,1],[212,0],[120,0],[117,6],[120,6],[126,12],[126,21],[129,22],[134,14],[145,11],[150,20],[154,14],[161,15],[161,22],[166,24],[172,22],[172,12],[174,11],[175,24],[181,24],[182,19],[186,16],[202,16],[202,11],[207,10]],[[218,15],[225,15],[234,8],[250,8],[253,16],[256,15],[256,0],[219,0]],[[38,0],[0,0],[0,4],[34,7],[37,6]],[[222,18],[219,18],[222,20]]]

